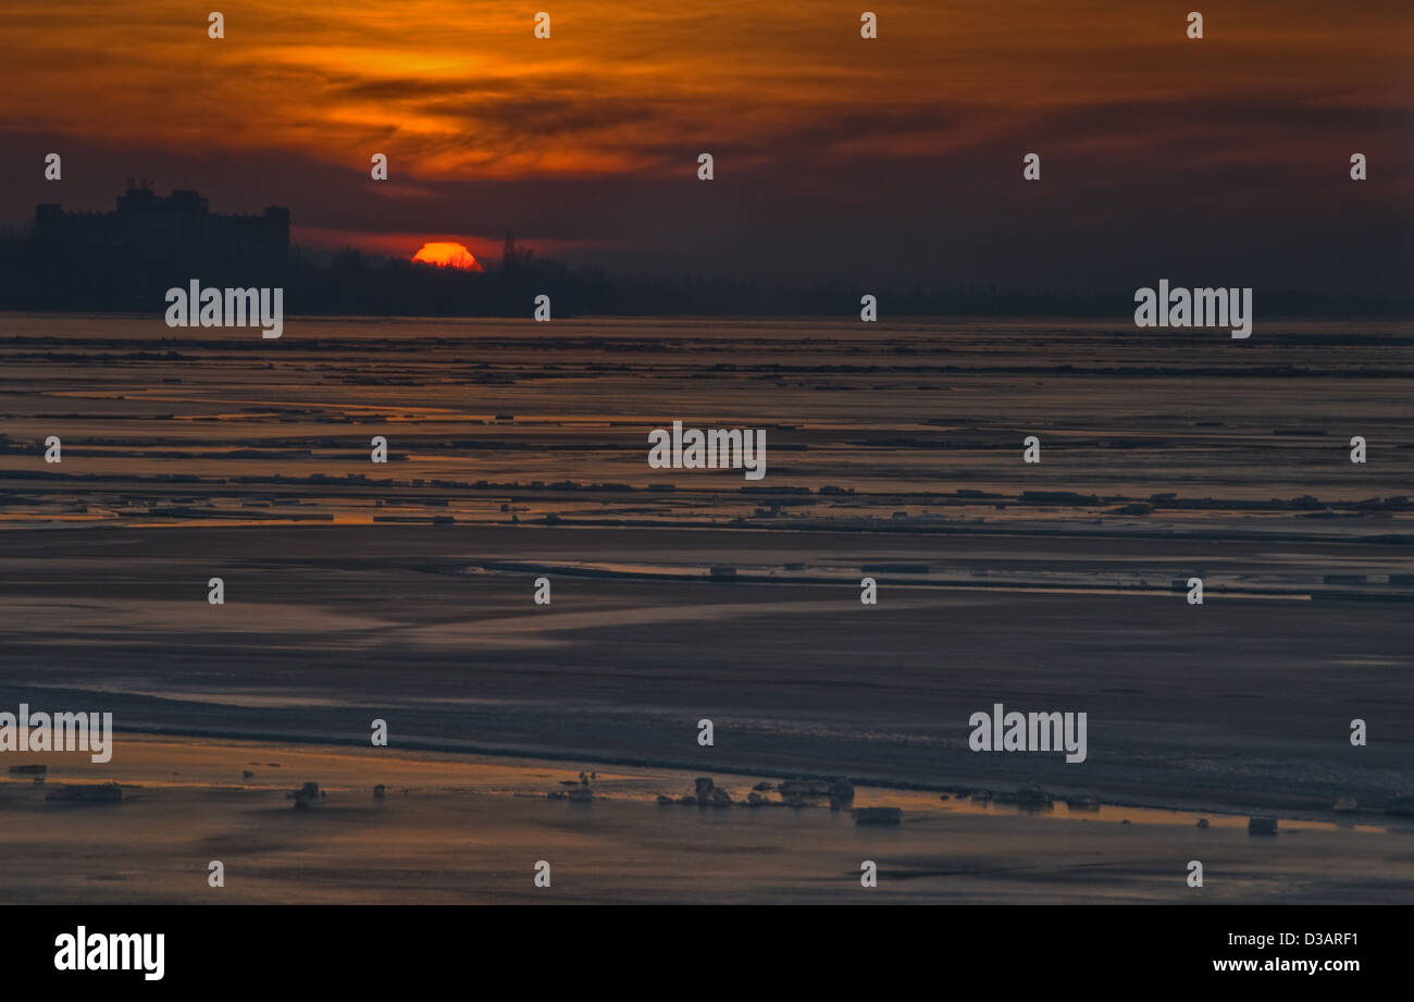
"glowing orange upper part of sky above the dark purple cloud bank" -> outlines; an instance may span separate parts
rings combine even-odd
[[[221,41],[175,0],[6,3],[6,37],[25,41],[6,52],[0,125],[359,167],[385,151],[411,194],[427,178],[682,170],[680,149],[725,140],[752,159],[930,156],[1116,102],[1410,109],[1401,3],[1225,3],[1200,44],[1184,6],[1143,0],[896,3],[865,42],[863,3],[214,0]],[[532,37],[537,6],[547,41]],[[812,125],[820,144],[776,144]],[[1124,137],[1068,140],[1094,142]]]

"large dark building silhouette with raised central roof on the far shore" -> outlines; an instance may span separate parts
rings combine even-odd
[[[37,207],[30,255],[37,294],[65,309],[147,309],[192,279],[205,286],[280,284],[290,260],[290,211],[212,212],[197,191],[157,195],[129,185],[113,212]]]

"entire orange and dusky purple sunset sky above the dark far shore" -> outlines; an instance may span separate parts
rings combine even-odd
[[[513,229],[617,270],[1408,290],[1414,4],[694,7],[0,0],[0,225],[132,175],[403,256]]]

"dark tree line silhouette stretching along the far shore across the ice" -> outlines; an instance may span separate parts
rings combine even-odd
[[[1131,289],[1065,293],[997,284],[850,287],[700,275],[611,276],[600,267],[540,258],[508,239],[482,272],[414,263],[362,250],[294,246],[284,260],[134,259],[122,248],[37,246],[31,235],[0,234],[0,310],[163,313],[165,292],[192,279],[204,286],[280,286],[291,314],[527,317],[534,297],[551,297],[554,317],[571,316],[831,316],[860,313],[875,294],[880,317],[1018,316],[1126,318]],[[1414,317],[1414,297],[1260,290],[1258,316]]]

